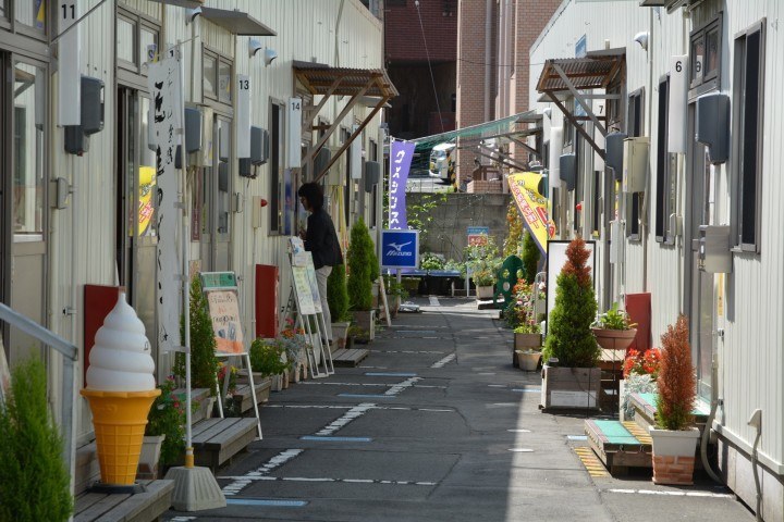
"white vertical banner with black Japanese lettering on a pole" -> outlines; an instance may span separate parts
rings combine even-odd
[[[182,129],[182,76],[179,53],[149,64],[147,86],[152,98],[152,147],[156,151],[158,202],[158,252],[156,270],[156,306],[158,308],[158,346],[170,350],[180,346],[180,278],[177,256],[177,173],[174,154]],[[183,252],[184,254],[184,252]]]

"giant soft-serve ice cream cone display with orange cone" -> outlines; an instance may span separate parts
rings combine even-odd
[[[147,414],[160,389],[144,324],[124,289],[95,340],[81,393],[93,411],[101,483],[130,486],[136,478]]]

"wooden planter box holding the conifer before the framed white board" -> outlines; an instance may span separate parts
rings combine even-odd
[[[540,407],[546,410],[597,409],[600,390],[598,368],[542,368]]]

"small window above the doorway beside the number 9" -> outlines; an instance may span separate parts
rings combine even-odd
[[[719,86],[721,73],[721,13],[702,27],[691,32],[689,38],[689,88],[691,95]]]

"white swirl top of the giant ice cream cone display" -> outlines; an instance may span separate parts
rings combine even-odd
[[[89,353],[87,388],[103,391],[155,389],[155,362],[145,327],[121,293],[98,330]]]

